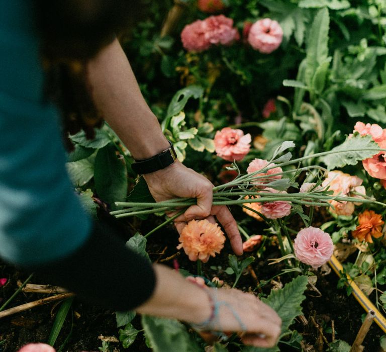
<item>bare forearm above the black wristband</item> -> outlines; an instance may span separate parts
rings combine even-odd
[[[87,70],[96,107],[134,158],[147,158],[168,148],[117,39],[88,62]]]

